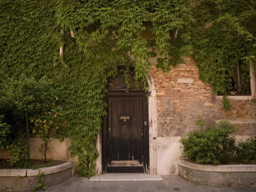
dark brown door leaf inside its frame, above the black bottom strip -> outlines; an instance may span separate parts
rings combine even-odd
[[[108,98],[108,106],[108,165],[142,164],[142,96]]]

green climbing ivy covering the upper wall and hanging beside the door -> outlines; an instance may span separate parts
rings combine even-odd
[[[135,79],[146,88],[149,56],[158,51],[157,67],[167,73],[171,64],[183,63],[183,56],[191,55],[200,78],[215,93],[225,93],[231,87],[234,62],[242,59],[249,69],[247,61],[255,56],[255,4],[246,3],[0,0],[0,70],[16,78],[21,73],[36,79],[47,76],[62,90],[64,108],[70,111],[69,150],[72,157],[78,156],[78,173],[90,177],[98,157],[94,141],[106,115],[106,85],[117,65],[129,69],[132,64]],[[174,29],[177,38],[169,41]],[[156,41],[143,37],[146,30],[156,35]]]

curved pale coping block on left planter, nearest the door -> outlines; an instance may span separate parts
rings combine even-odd
[[[57,165],[57,166],[44,167],[44,168],[35,169],[35,170],[28,169],[26,176],[36,176],[36,175],[38,175],[39,171],[44,172],[44,175],[49,175],[52,173],[58,173],[58,172],[65,171],[67,169],[70,169],[71,167],[73,167],[73,162],[68,161],[66,163],[62,163],[61,165]]]

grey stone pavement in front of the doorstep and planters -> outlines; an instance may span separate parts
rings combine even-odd
[[[163,181],[89,181],[71,177],[46,192],[256,192],[256,189],[221,189],[199,186],[180,176],[162,176]]]

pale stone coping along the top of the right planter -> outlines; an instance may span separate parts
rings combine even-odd
[[[256,165],[205,165],[179,159],[178,164],[190,169],[208,172],[256,172]]]

